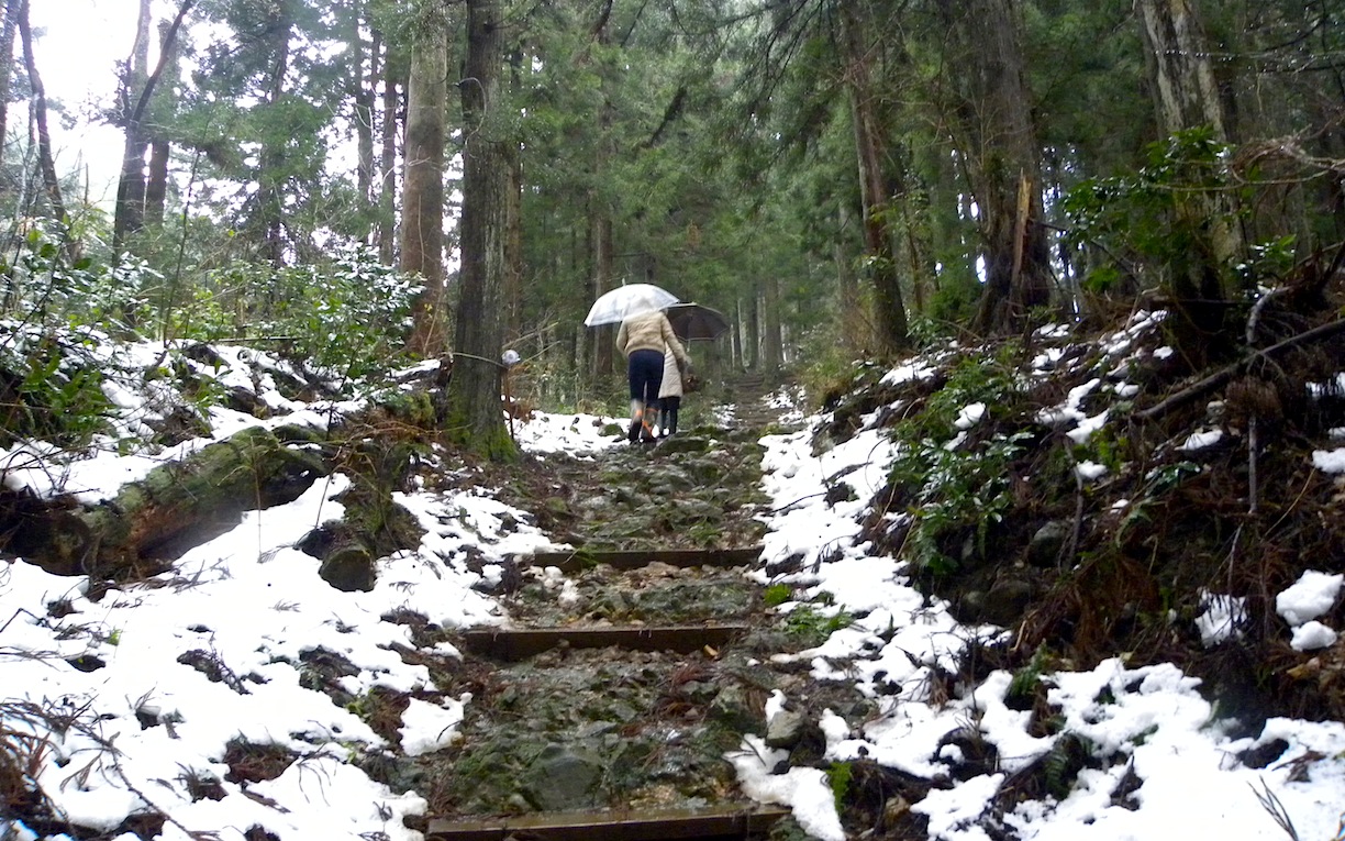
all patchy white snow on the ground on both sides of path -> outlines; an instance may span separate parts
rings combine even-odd
[[[1115,343],[1128,347],[1134,336],[1132,326]],[[913,366],[894,369],[889,379],[920,375],[927,371]],[[323,425],[342,410],[281,402],[261,385],[268,402],[295,412],[285,423],[300,417]],[[1091,428],[1096,416],[1080,410],[1081,398],[1072,396],[1053,420]],[[153,410],[136,408],[129,388],[118,393],[118,402],[143,413]],[[968,408],[966,414],[970,421],[976,410]],[[603,435],[609,420],[534,413],[515,421],[514,432],[535,452],[593,456],[616,440]],[[1005,631],[959,624],[944,603],[911,587],[902,562],[873,554],[858,540],[857,521],[894,455],[881,431],[863,428],[814,455],[810,429],[822,418],[804,420],[808,428],[802,432],[764,439],[764,490],[773,502],[763,514],[769,527],[763,566],[802,554],[803,572],[788,579],[800,597],[826,592],[831,610],[862,616],[818,649],[794,657],[808,663],[815,680],[851,685],[881,704],[881,715],[869,721],[829,713],[822,721],[827,756],[869,756],[911,774],[944,775],[947,751],[954,748],[940,749],[943,736],[974,724],[997,745],[999,772],[933,790],[915,809],[928,815],[931,838],[985,841],[991,837],[985,815],[1005,775],[1049,751],[1060,736],[1036,737],[1025,731],[1026,715],[1005,705],[1006,673],[989,675],[951,701],[932,702],[927,690],[936,669],[955,669],[968,642],[1001,639]],[[221,437],[260,423],[223,412],[214,421]],[[872,427],[874,416],[866,423]],[[48,492],[63,482],[94,501],[204,443],[155,456],[105,452],[62,471],[40,470],[34,463],[38,448],[15,447],[0,453],[0,463],[9,466],[5,482],[11,487]],[[43,463],[50,464],[50,458]],[[827,505],[826,488],[839,476],[854,487],[855,501]],[[317,577],[316,564],[293,544],[338,515],[334,497],[347,482],[338,475],[289,505],[249,513],[238,527],[191,550],[175,572],[112,591],[100,601],[86,597],[82,579],[56,577],[23,561],[0,562],[0,719],[12,733],[7,736],[11,743],[32,747],[36,778],[56,809],[79,824],[110,829],[128,814],[152,807],[168,815],[160,836],[167,841],[198,832],[238,841],[253,825],[285,840],[420,838],[402,825],[402,815],[422,813],[425,802],[414,793],[395,794],[374,783],[348,762],[352,748],[386,745],[352,712],[300,686],[300,658],[315,647],[348,658],[358,673],[346,677],[343,688],[355,696],[374,686],[428,688],[425,667],[409,666],[390,650],[393,643],[409,643],[406,628],[382,616],[412,610],[445,627],[500,622],[500,607],[472,588],[480,576],[492,575],[492,565],[487,562],[483,573],[469,572],[461,562],[467,549],[491,561],[553,546],[526,525],[526,514],[495,501],[490,488],[402,494],[398,502],[426,529],[422,545],[383,558],[373,592],[339,592]],[[896,523],[898,517],[892,519]],[[525,525],[504,529],[506,521]],[[1321,606],[1334,601],[1340,588],[1341,576],[1319,573],[1303,576],[1282,593],[1286,628],[1302,632],[1305,647],[1334,638],[1318,618]],[[63,610],[48,610],[52,604]],[[1217,595],[1209,604],[1205,630],[1210,645],[1217,645],[1232,636],[1228,626],[1236,606]],[[456,655],[451,646],[443,649]],[[217,663],[225,680],[207,680],[183,662],[192,658]],[[85,671],[71,661],[101,662],[102,667]],[[1123,658],[1044,680],[1050,701],[1068,721],[1065,732],[1085,739],[1104,762],[1102,770],[1083,771],[1065,798],[1024,803],[1009,814],[1005,824],[1020,838],[1279,837],[1283,832],[1263,799],[1279,803],[1305,841],[1341,837],[1341,723],[1276,719],[1256,737],[1233,737],[1201,698],[1194,680],[1167,665],[1131,667]],[[416,754],[447,744],[471,704],[471,696],[413,702],[402,719],[402,749]],[[787,705],[787,697],[777,697],[771,709]],[[763,733],[764,728],[765,721]],[[274,780],[229,782],[222,758],[235,739],[277,743],[304,759]],[[1239,752],[1276,739],[1289,748],[1271,766],[1256,770],[1237,762]],[[816,838],[843,841],[822,771],[794,768],[772,775],[775,760],[755,737],[726,759],[752,797],[790,805]],[[1122,776],[1131,772],[1138,789],[1127,805],[1112,802]],[[222,799],[192,798],[188,780],[202,778],[218,780]],[[0,822],[0,837],[31,841],[39,836],[8,821]],[[120,841],[133,837],[125,833]]]

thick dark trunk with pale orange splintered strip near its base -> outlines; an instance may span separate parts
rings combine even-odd
[[[1017,0],[943,0],[955,132],[976,199],[986,276],[972,328],[1015,330],[1050,300],[1041,223],[1041,153],[1024,67]]]

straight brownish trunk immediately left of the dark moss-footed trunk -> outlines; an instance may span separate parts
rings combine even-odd
[[[412,47],[406,86],[406,152],[402,180],[404,272],[421,276],[425,291],[412,312],[408,350],[421,357],[443,353],[444,301],[444,129],[448,110],[448,16],[429,4]]]

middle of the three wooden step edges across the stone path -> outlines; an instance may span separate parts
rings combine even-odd
[[[472,628],[463,632],[468,650],[502,661],[527,659],[557,646],[570,649],[619,647],[632,651],[687,654],[705,646],[721,647],[745,634],[749,626],[674,624],[546,628]]]

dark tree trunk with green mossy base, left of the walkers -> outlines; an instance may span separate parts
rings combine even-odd
[[[461,300],[449,382],[448,433],[492,460],[518,448],[500,404],[508,238],[508,144],[500,97],[504,32],[499,0],[467,0],[463,97]]]

